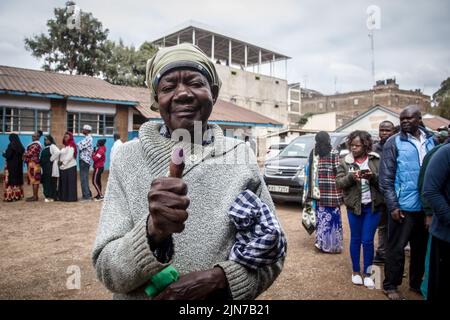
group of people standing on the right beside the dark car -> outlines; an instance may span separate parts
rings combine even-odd
[[[427,131],[419,107],[408,106],[400,113],[399,127],[390,121],[379,124],[380,141],[375,145],[368,132],[351,132],[350,153],[340,160],[334,156],[329,135],[316,135],[316,146],[303,169],[303,221],[312,216],[307,221],[314,223],[307,230],[315,229],[319,250],[340,253],[339,206],[341,201],[345,204],[353,284],[375,288],[372,265],[384,264],[384,293],[391,300],[403,299],[398,287],[409,247],[410,290],[429,300],[449,297],[449,130]]]

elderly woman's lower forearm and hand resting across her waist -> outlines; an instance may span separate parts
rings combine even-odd
[[[220,267],[214,267],[182,275],[154,300],[205,300],[227,288],[228,282],[224,271]]]

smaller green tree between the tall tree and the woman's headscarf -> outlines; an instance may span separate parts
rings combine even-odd
[[[119,43],[107,42],[108,57],[105,68],[105,80],[118,85],[145,86],[145,69],[147,60],[156,52],[156,47],[150,42],[144,42],[138,50],[134,46],[126,46],[122,40]]]

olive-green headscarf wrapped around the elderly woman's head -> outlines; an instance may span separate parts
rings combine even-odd
[[[157,89],[162,76],[174,69],[192,69],[208,79],[209,84],[221,87],[222,82],[214,63],[199,47],[182,43],[172,47],[160,48],[153,58],[147,61],[145,82],[150,89],[150,108],[159,111]]]

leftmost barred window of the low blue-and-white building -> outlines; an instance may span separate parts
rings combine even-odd
[[[27,108],[0,107],[0,131],[33,133],[50,132],[50,111]]]

